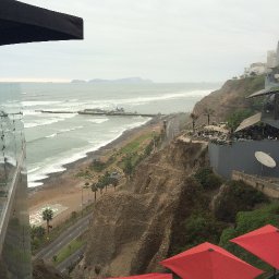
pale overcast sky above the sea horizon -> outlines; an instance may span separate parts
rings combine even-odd
[[[0,48],[0,81],[223,82],[279,40],[278,0],[22,0],[84,19],[84,40]]]

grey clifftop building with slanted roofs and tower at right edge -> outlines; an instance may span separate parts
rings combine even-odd
[[[231,179],[233,171],[252,175],[279,178],[279,45],[276,51],[268,51],[265,89],[247,98],[264,98],[262,111],[243,120],[227,143],[209,143],[213,169]],[[276,168],[267,168],[255,158],[256,151],[269,154]]]

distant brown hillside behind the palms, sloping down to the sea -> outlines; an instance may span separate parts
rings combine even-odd
[[[213,92],[195,105],[193,111],[199,116],[197,123],[207,122],[204,116],[206,108],[215,111],[210,119],[220,122],[226,121],[235,110],[256,107],[256,99],[245,99],[245,97],[263,89],[264,86],[264,76],[227,81],[219,90]]]

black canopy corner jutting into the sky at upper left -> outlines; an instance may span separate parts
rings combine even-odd
[[[14,0],[0,1],[0,46],[83,39],[83,20]]]

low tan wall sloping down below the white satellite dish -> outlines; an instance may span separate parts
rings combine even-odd
[[[269,197],[279,198],[279,181],[277,182],[277,185],[276,183],[271,183],[268,180],[264,180],[262,178],[257,178],[255,175],[246,174],[239,171],[232,172],[232,180],[243,181]]]

